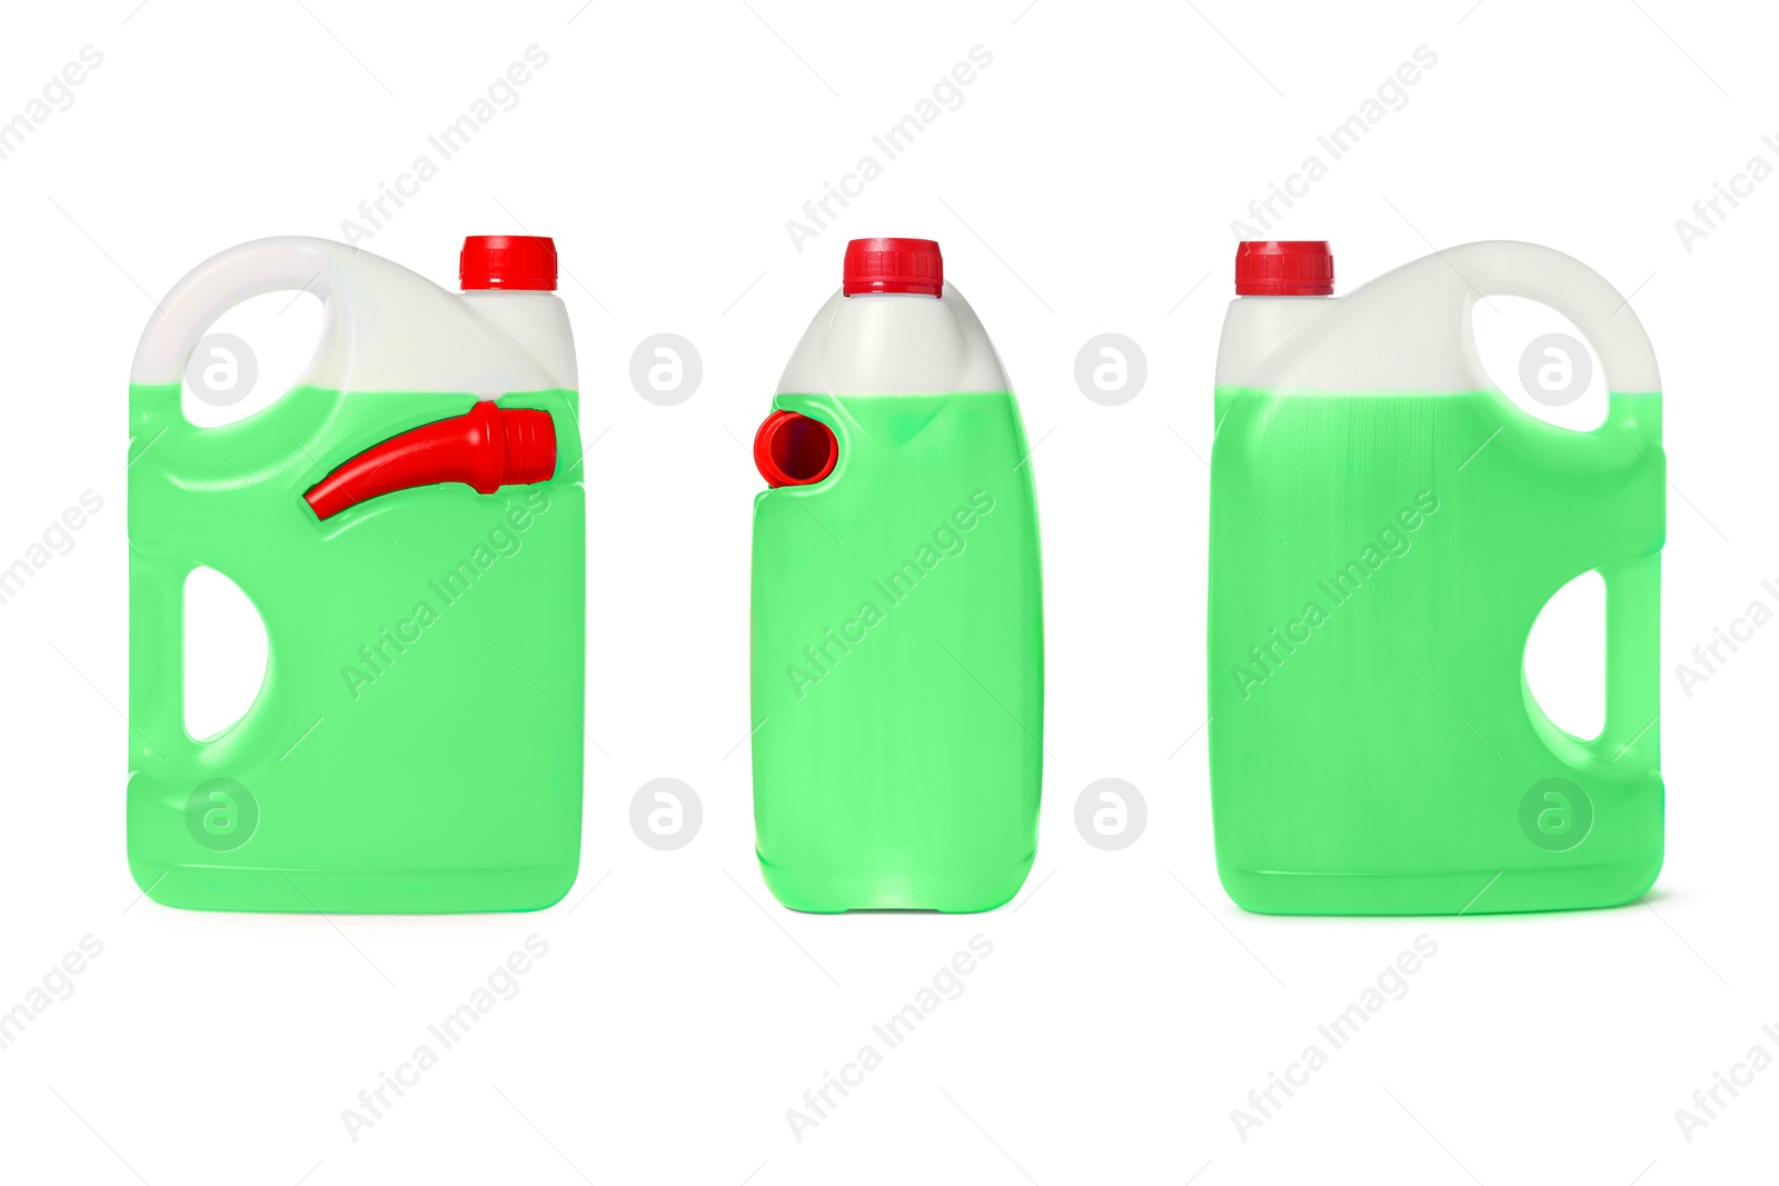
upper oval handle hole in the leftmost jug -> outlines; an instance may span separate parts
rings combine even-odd
[[[308,292],[249,297],[192,343],[180,409],[219,429],[270,407],[297,384],[322,336],[322,302]]]

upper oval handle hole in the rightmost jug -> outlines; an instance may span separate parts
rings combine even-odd
[[[1489,297],[1471,309],[1477,356],[1519,411],[1558,429],[1606,423],[1606,372],[1574,322],[1525,297]]]

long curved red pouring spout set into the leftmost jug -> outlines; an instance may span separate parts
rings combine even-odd
[[[532,407],[477,400],[463,416],[409,429],[338,466],[302,496],[317,519],[361,501],[439,482],[482,494],[555,475],[555,421]]]

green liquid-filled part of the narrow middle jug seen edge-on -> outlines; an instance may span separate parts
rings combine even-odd
[[[840,443],[754,500],[760,868],[795,910],[987,910],[1037,852],[1037,503],[1010,393],[779,395]]]

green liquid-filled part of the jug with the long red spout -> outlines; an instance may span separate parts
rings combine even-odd
[[[297,388],[196,429],[178,386],[130,391],[135,882],[208,910],[530,910],[580,857],[585,503],[573,391],[550,482],[398,491],[320,523],[342,461],[473,395]],[[233,580],[265,683],[222,734],[183,724],[183,587]]]

